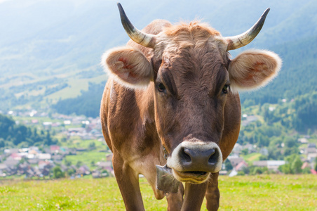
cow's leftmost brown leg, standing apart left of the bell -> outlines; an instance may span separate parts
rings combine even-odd
[[[114,154],[112,162],[126,210],[144,210],[139,175],[118,154]]]

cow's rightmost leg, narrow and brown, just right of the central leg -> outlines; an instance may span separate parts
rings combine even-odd
[[[218,210],[219,207],[220,192],[218,188],[218,175],[219,172],[213,173],[208,180],[208,188],[205,193],[207,210]]]

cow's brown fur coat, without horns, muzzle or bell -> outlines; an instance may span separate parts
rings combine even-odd
[[[102,132],[114,153],[114,172],[127,210],[144,210],[138,174],[147,178],[156,198],[163,198],[163,191],[156,189],[155,168],[166,164],[163,146],[170,158],[182,141],[214,142],[226,159],[238,139],[241,108],[238,94],[224,94],[222,88],[230,81],[236,87],[251,84],[253,88],[252,81],[267,81],[278,70],[278,65],[271,68],[270,56],[262,51],[242,55],[229,65],[227,43],[205,24],[156,20],[144,32],[158,34],[154,49],[129,41],[126,48],[102,58],[114,75],[102,97]],[[135,57],[122,56],[127,49]],[[241,65],[248,68],[241,70]],[[128,71],[127,82],[140,77],[127,85],[121,82],[120,68]],[[157,91],[158,83],[165,85],[166,92]],[[149,85],[138,89],[140,84]],[[181,185],[178,193],[169,194],[168,210],[200,210],[204,196],[208,210],[217,210],[217,176],[210,174],[208,183],[187,183],[185,190]]]

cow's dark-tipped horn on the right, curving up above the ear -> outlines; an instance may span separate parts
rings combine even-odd
[[[267,8],[261,18],[257,20],[257,23],[255,23],[255,25],[253,25],[248,31],[234,37],[225,37],[224,39],[226,39],[228,42],[227,51],[241,48],[255,39],[255,37],[257,37],[257,34],[259,34],[259,31],[261,31],[262,26],[264,25],[265,18],[267,18],[267,13],[269,13],[269,11],[270,8]]]

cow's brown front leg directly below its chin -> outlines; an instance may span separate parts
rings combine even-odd
[[[185,184],[185,198],[182,206],[182,211],[201,210],[201,204],[205,196],[208,183],[203,184]]]

